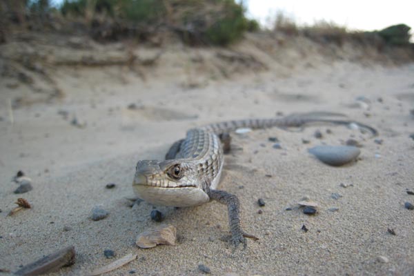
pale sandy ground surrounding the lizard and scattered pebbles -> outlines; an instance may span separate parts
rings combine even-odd
[[[414,275],[414,211],[404,208],[405,201],[414,201],[406,193],[414,190],[414,141],[409,138],[414,65],[315,59],[312,66],[308,61],[277,70],[269,66],[209,81],[199,81],[194,68],[186,69],[187,75],[175,74],[173,66],[148,70],[144,79],[121,66],[63,66],[52,76],[65,97],[14,108],[13,122],[11,95],[28,93],[28,88],[10,88],[13,80],[2,78],[0,268],[15,271],[74,245],[76,264],[58,275],[85,275],[108,264],[106,249],[117,257],[138,255],[109,275],[131,270],[136,275],[201,275],[199,264],[213,275]],[[178,58],[177,64],[182,65]],[[360,96],[366,102],[355,100]],[[128,108],[131,103],[137,108]],[[163,224],[177,227],[178,244],[135,246],[139,233],[159,225],[150,219],[151,204],[128,206],[137,160],[163,158],[193,126],[314,110],[342,112],[369,124],[383,142],[344,126],[233,135],[219,187],[239,197],[244,228],[259,241],[249,240],[246,249],[233,253],[221,241],[228,235],[226,208],[210,202],[177,210],[157,206],[166,215]],[[78,126],[71,124],[74,118]],[[314,137],[315,130],[322,139]],[[282,149],[273,148],[268,137],[277,137]],[[308,153],[315,145],[340,145],[350,138],[362,145],[353,164],[326,166]],[[23,195],[13,193],[17,185],[10,181],[18,170],[33,180],[33,190]],[[106,189],[108,183],[117,186]],[[332,193],[342,197],[333,199]],[[305,196],[319,204],[317,215],[297,208]],[[18,197],[28,199],[32,208],[8,217]],[[266,206],[257,205],[259,198]],[[92,221],[91,209],[99,205],[110,215]],[[388,262],[379,262],[379,256]]]

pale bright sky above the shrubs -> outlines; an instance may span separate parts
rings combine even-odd
[[[266,26],[278,11],[296,23],[311,25],[325,20],[350,30],[381,30],[405,23],[414,28],[414,1],[372,0],[238,0],[247,7],[248,17]]]

